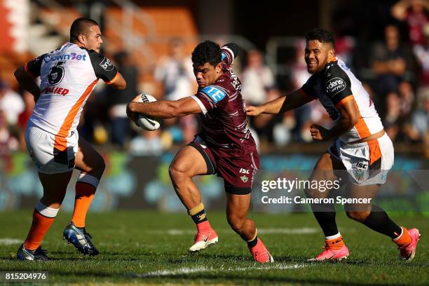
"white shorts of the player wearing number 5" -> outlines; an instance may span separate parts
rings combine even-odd
[[[35,126],[25,130],[27,150],[39,172],[56,174],[74,169],[74,157],[79,149],[79,135],[58,137]]]

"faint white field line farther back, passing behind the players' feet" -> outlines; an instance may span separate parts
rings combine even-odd
[[[195,229],[168,229],[166,231],[149,231],[154,234],[167,234],[168,236],[194,235]],[[231,229],[216,229],[217,233],[231,233]],[[303,227],[300,229],[258,229],[259,234],[314,234],[319,229]]]

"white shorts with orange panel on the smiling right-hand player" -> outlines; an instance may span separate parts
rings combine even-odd
[[[348,179],[357,185],[384,184],[393,167],[393,144],[386,133],[378,139],[357,144],[337,139],[328,151],[343,163]]]

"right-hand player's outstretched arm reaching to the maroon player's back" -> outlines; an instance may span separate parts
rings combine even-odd
[[[315,97],[306,95],[301,90],[295,90],[290,95],[278,97],[271,102],[266,102],[259,107],[248,106],[246,113],[249,116],[258,116],[259,114],[279,114],[303,106],[307,102],[315,100]]]

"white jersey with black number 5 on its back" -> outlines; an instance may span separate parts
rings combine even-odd
[[[98,79],[113,83],[118,76],[107,57],[74,43],[25,63],[25,70],[41,78],[41,95],[28,125],[55,135],[55,148],[60,151],[67,149],[64,138],[75,132]]]

